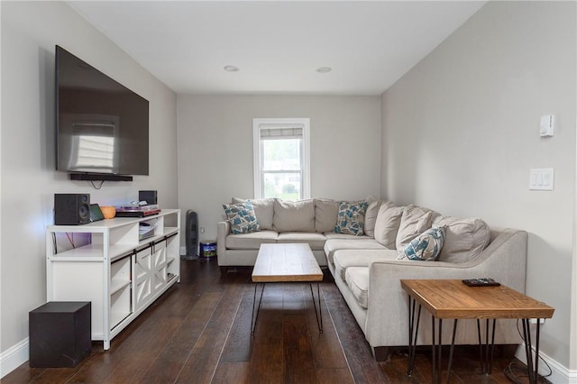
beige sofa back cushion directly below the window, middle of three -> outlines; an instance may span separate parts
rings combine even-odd
[[[315,232],[315,200],[274,200],[272,225],[277,232]]]

